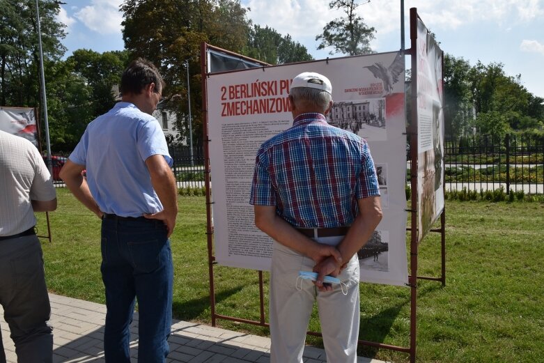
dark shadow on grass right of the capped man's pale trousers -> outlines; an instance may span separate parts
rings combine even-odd
[[[442,288],[442,284],[440,284],[440,282],[437,282],[436,284],[424,285],[418,283],[418,288],[419,291],[417,293],[417,299],[419,300],[428,293],[432,293]],[[398,318],[401,310],[403,310],[405,307],[410,310],[410,293],[408,293],[407,298],[405,298],[402,302],[395,304],[393,307],[383,309],[374,316],[361,318],[359,325],[359,337],[362,338],[362,340],[364,341],[369,341],[373,343],[384,343],[385,338],[389,335],[389,332],[391,331],[391,327],[393,327],[395,320]],[[407,318],[410,319],[410,312],[408,313]],[[404,345],[404,347],[409,348],[410,325],[403,341],[406,341],[406,345]],[[402,342],[394,342],[389,344],[394,346],[403,346]],[[359,344],[359,348],[357,349],[357,351],[359,355],[368,358],[374,358],[378,354],[379,349],[380,348],[375,348],[373,346]]]

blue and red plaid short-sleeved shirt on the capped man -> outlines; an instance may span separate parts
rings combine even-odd
[[[379,196],[368,144],[322,114],[302,114],[259,148],[250,203],[301,228],[349,226],[357,199]]]

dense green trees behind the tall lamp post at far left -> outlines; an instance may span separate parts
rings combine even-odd
[[[125,52],[80,49],[61,60],[65,25],[58,22],[59,2],[39,1],[52,150],[72,150],[86,125],[114,104],[111,86],[127,64]],[[0,106],[40,107],[40,72],[33,1],[0,0]],[[4,17],[4,15],[6,15]],[[45,137],[45,132],[42,132]],[[45,145],[42,140],[42,145]]]

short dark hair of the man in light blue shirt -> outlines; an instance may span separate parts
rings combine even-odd
[[[166,86],[153,63],[143,58],[134,59],[121,76],[120,91],[122,95],[127,93],[139,95],[150,83],[155,83],[157,93],[162,92],[162,88]]]

